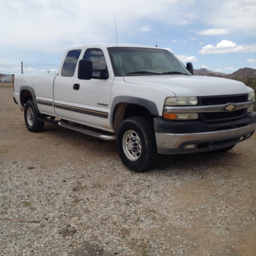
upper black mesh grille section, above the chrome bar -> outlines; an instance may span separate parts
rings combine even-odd
[[[214,97],[201,97],[201,104],[202,106],[207,105],[224,105],[227,103],[240,103],[246,102],[248,100],[248,95],[233,95],[233,96],[214,96]]]

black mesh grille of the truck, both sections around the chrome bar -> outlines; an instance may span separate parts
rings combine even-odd
[[[247,101],[248,94],[199,97],[199,105],[201,106],[226,105],[228,103],[236,104]],[[245,112],[246,109],[240,109],[231,112],[205,112],[200,115],[200,118],[206,123],[226,122],[242,118],[245,115]]]

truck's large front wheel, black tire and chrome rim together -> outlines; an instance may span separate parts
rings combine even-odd
[[[143,117],[125,119],[117,132],[117,150],[122,162],[132,171],[153,168],[157,159],[153,125]]]

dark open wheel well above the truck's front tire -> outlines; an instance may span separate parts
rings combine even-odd
[[[119,103],[114,110],[114,118],[113,118],[113,128],[114,131],[117,131],[121,123],[124,119],[133,116],[140,116],[144,117],[147,120],[152,121],[153,115],[150,111],[137,104],[130,104],[130,103]]]

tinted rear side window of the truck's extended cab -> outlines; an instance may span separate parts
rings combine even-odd
[[[73,76],[76,69],[76,64],[78,61],[78,58],[80,56],[81,50],[71,50],[68,52],[62,69],[61,69],[61,75],[62,76]]]

